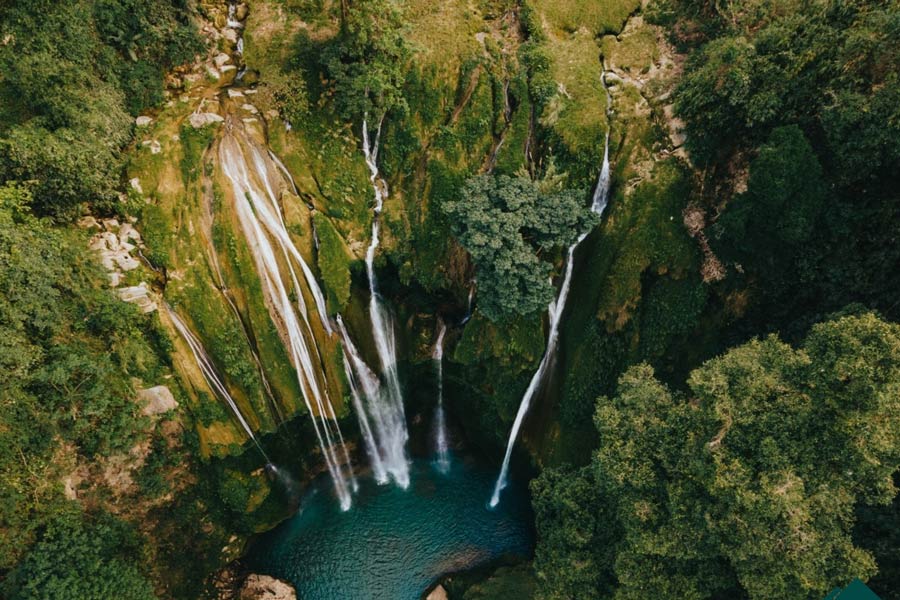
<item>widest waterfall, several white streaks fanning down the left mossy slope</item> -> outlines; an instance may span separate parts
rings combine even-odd
[[[273,179],[280,180],[277,175],[273,176],[275,169],[270,168],[271,160],[267,161],[249,139],[245,139],[242,145],[235,134],[238,127],[236,122],[229,123],[229,131],[219,145],[219,162],[223,174],[231,182],[235,211],[253,255],[266,305],[283,335],[335,493],[341,508],[347,510],[352,503],[350,488],[356,489],[357,483],[334,408],[328,398],[325,372],[295,264],[300,266],[315,300],[322,326],[330,332],[331,326],[324,312],[324,298],[309,266],[288,234],[272,187]],[[255,168],[251,168],[251,164]],[[287,274],[282,272],[279,251],[284,259],[283,264],[287,266]],[[290,281],[291,288],[285,284],[286,279]],[[289,289],[293,291],[296,309]],[[347,465],[348,473],[344,472],[342,460]]]

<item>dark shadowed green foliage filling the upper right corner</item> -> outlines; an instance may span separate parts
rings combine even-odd
[[[704,200],[725,207],[711,240],[733,267],[724,295],[749,290],[736,338],[796,337],[852,302],[897,316],[900,9],[819,8],[657,0],[651,11],[693,47],[675,109],[705,167]],[[748,164],[746,193],[731,197]]]

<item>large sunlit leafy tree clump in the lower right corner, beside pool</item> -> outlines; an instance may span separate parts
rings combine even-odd
[[[819,598],[873,575],[853,512],[896,493],[900,326],[754,340],[688,385],[629,369],[598,401],[592,467],[533,484],[540,597]]]

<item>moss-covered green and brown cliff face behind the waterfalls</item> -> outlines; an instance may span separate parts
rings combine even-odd
[[[390,194],[376,268],[395,313],[403,372],[412,378],[416,365],[429,361],[438,314],[457,323],[447,335],[447,387],[448,398],[458,400],[448,409],[470,439],[490,450],[505,440],[545,333],[539,316],[498,327],[476,311],[463,322],[473,267],[449,233],[441,202],[470,175],[534,173],[551,155],[560,176],[587,194],[610,132],[610,209],[580,251],[578,268],[587,275],[572,290],[552,389],[533,409],[532,422],[541,425],[526,426],[526,446],[539,463],[583,458],[583,448],[568,440],[590,439],[581,431],[590,421],[586,407],[612,385],[624,357],[659,355],[681,335],[654,333],[660,290],[686,286],[689,296],[699,277],[696,245],[681,215],[690,188],[683,139],[667,104],[679,60],[659,30],[628,18],[637,6],[620,8],[622,14],[572,25],[571,15],[550,2],[527,10],[408,3],[416,48],[405,88],[410,110],[389,117],[383,131],[379,160]],[[249,7],[204,2],[200,10],[209,54],[173,73],[165,106],[137,122],[128,169],[135,222],[85,226],[96,230],[92,247],[124,300],[147,311],[168,302],[185,318],[257,435],[294,419],[293,449],[302,449],[294,456],[309,475],[322,468],[321,457],[304,424],[282,324],[271,319],[218,161],[221,140],[235,128],[274,151],[283,167],[275,194],[292,242],[323,282],[328,310],[340,310],[353,331],[368,331],[361,263],[371,189],[359,132],[325,97],[312,98],[312,110],[297,122],[287,120],[281,100],[291,77],[310,85],[315,65],[303,61],[315,58],[310,47],[336,34],[337,17],[266,0]],[[307,54],[297,53],[300,42]],[[535,74],[522,58],[526,46],[547,57],[540,88],[546,97],[535,96]],[[600,82],[604,68],[611,98]],[[656,238],[674,250],[659,249]],[[342,277],[349,293],[340,289]],[[311,296],[304,300],[315,304]],[[242,456],[244,432],[171,324],[169,333],[183,393],[175,410],[193,415],[204,456]],[[329,394],[344,418],[339,346],[322,332],[316,336]],[[373,357],[371,340],[359,338],[361,351]],[[598,355],[604,362],[592,362]],[[171,406],[165,394],[146,395],[151,412]],[[420,420],[415,400],[408,410],[411,421]],[[245,499],[251,513],[265,505],[269,486],[261,472],[230,472],[245,485],[256,481],[251,487],[259,491]],[[239,547],[240,540],[229,543],[222,556]]]

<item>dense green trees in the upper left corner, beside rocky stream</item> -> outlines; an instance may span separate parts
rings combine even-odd
[[[4,5],[0,181],[37,182],[34,208],[112,210],[131,116],[162,100],[166,69],[202,49],[180,0]]]

